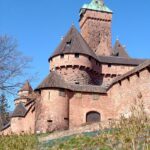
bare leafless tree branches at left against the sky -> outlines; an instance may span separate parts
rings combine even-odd
[[[0,93],[14,93],[22,84],[20,77],[28,67],[30,59],[17,50],[16,41],[9,36],[0,36]]]

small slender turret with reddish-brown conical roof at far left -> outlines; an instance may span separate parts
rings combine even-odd
[[[18,98],[15,99],[15,105],[19,103],[26,104],[29,100],[29,95],[32,94],[33,89],[28,81],[22,86],[22,88],[18,91]]]

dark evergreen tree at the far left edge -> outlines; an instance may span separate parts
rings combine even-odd
[[[4,93],[0,96],[0,128],[9,121],[8,103]]]

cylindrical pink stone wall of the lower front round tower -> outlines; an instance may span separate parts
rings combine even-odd
[[[42,90],[38,102],[36,132],[68,129],[68,96],[59,95],[59,90]]]

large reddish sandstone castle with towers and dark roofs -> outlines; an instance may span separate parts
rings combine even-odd
[[[19,90],[1,133],[45,133],[128,117],[138,98],[150,113],[150,60],[131,58],[119,40],[112,46],[112,14],[102,0],[83,5],[81,32],[71,27],[35,90],[29,82]]]

